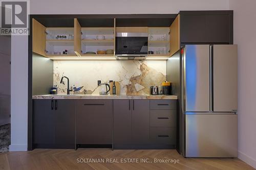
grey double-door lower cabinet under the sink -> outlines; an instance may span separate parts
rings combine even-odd
[[[35,148],[75,148],[75,101],[33,100]]]

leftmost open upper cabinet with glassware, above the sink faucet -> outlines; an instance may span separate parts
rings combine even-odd
[[[32,19],[32,51],[45,57],[74,56],[74,19]],[[54,23],[54,24],[52,24]],[[54,27],[54,26],[58,27]]]

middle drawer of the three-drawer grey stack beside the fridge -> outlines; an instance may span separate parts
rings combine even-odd
[[[151,127],[176,127],[176,110],[151,110]]]

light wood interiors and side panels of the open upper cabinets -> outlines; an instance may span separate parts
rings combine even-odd
[[[52,37],[49,39],[49,33]],[[179,15],[170,27],[116,27],[114,18],[114,27],[81,27],[79,20],[74,18],[73,28],[47,28],[35,19],[33,19],[33,52],[51,59],[63,59],[69,57],[81,57],[80,59],[96,57],[113,57],[115,59],[115,41],[116,33],[148,33],[148,51],[154,54],[148,54],[148,58],[168,58],[180,49],[180,24]],[[47,34],[46,34],[47,33]],[[73,39],[55,39],[60,34],[73,34]],[[104,35],[105,39],[97,39],[97,35]],[[150,36],[155,37],[151,39]],[[56,54],[56,49],[58,53]],[[72,49],[71,49],[72,48]],[[49,50],[50,49],[50,50]],[[60,49],[60,50],[59,50]],[[63,50],[69,50],[73,53],[62,54]],[[114,54],[97,54],[97,50],[114,50]],[[47,53],[46,53],[47,52]],[[86,52],[95,52],[96,54],[86,54]]]

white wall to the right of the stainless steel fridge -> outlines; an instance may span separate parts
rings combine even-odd
[[[239,158],[256,168],[256,1],[230,0],[238,44]]]

